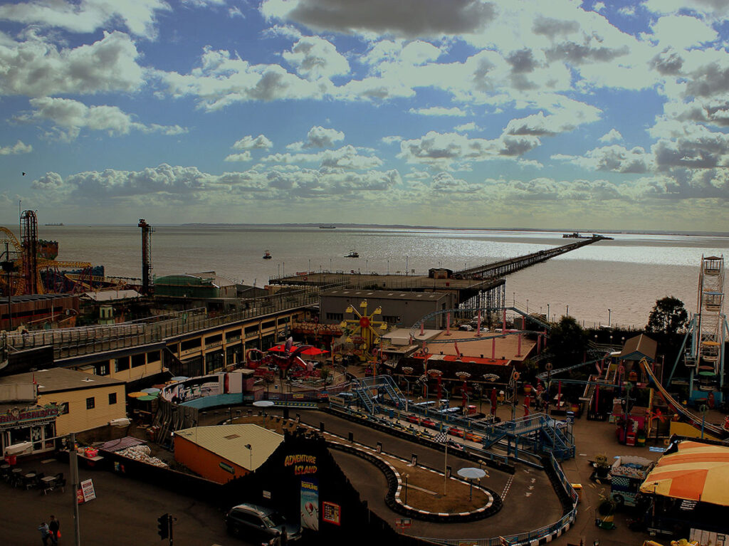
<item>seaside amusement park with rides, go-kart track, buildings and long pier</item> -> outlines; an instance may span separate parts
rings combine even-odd
[[[644,329],[587,328],[508,302],[506,276],[601,235],[260,289],[153,278],[139,227],[139,279],[56,261],[33,211],[1,228],[0,499],[26,526],[41,499],[99,539],[93,480],[112,528],[112,499],[150,488],[128,513],[147,540],[164,512],[170,543],[729,546],[723,257],[701,258],[695,312],[666,297]],[[219,526],[182,518],[190,499]]]

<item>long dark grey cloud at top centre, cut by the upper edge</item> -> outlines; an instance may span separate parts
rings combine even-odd
[[[265,0],[262,14],[309,28],[344,33],[440,36],[479,31],[494,19],[491,2],[481,0]]]

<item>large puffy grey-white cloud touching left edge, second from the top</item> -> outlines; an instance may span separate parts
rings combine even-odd
[[[134,91],[143,83],[139,52],[127,34],[58,50],[42,39],[0,45],[0,93],[52,96]]]

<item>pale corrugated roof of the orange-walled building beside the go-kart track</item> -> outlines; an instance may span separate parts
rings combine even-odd
[[[281,434],[254,424],[195,426],[174,434],[249,470],[265,463],[284,441]]]

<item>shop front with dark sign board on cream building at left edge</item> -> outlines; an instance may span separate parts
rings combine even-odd
[[[53,451],[55,442],[55,418],[61,413],[61,407],[47,405],[30,406],[20,409],[13,407],[0,413],[0,448],[22,442],[31,442],[33,448],[26,454]]]

